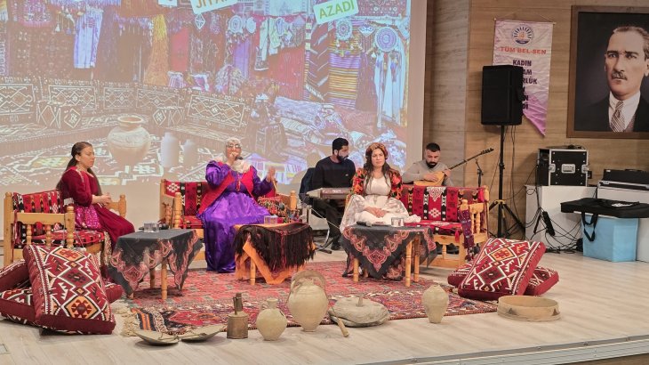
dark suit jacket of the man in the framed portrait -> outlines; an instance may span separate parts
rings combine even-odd
[[[612,132],[608,119],[608,96],[583,110],[574,120],[575,131]],[[649,132],[649,102],[640,96],[637,104],[633,132]]]

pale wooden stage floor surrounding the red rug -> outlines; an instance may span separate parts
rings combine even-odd
[[[316,254],[316,261],[343,260],[342,251]],[[196,265],[200,266],[201,263]],[[337,326],[314,333],[286,328],[277,342],[256,330],[231,340],[222,333],[201,344],[146,345],[122,337],[124,319],[110,336],[63,336],[0,321],[0,363],[569,363],[649,353],[649,264],[610,263],[581,254],[546,254],[541,265],[556,269],[560,280],[545,297],[557,300],[561,319],[551,322],[508,320],[497,313],[391,320],[375,328]],[[445,282],[450,270],[426,268],[430,279]],[[123,301],[113,304],[124,307]],[[252,347],[254,346],[254,347]],[[72,360],[74,359],[74,360]],[[644,359],[644,358],[643,358]],[[640,360],[639,363],[643,363]],[[615,363],[615,361],[606,362]],[[636,363],[636,362],[634,362]]]

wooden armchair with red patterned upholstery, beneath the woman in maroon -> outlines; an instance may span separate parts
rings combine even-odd
[[[126,216],[126,197],[110,204],[122,217]],[[40,191],[4,195],[4,265],[20,260],[25,245],[63,245],[83,247],[91,254],[102,252],[106,231],[75,230],[74,207],[65,207],[60,191]],[[109,242],[109,241],[108,241]],[[103,261],[103,257],[101,257]]]

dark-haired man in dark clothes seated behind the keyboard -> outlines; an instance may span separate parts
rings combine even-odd
[[[349,142],[344,138],[336,138],[332,142],[332,155],[316,163],[309,190],[320,188],[351,188],[351,178],[356,173],[354,162],[348,159]],[[329,224],[332,237],[332,248],[340,249],[338,239],[341,237],[342,214],[345,211],[344,200],[314,199],[313,208],[322,215]]]

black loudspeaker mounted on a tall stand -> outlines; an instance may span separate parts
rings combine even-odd
[[[482,68],[482,124],[521,124],[524,99],[522,67],[500,65]]]

